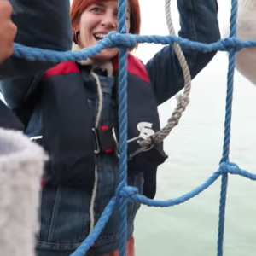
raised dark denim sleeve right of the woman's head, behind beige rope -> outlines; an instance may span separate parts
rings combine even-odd
[[[179,0],[181,30],[179,37],[205,44],[220,39],[218,28],[218,4],[216,0]],[[216,51],[202,53],[181,47],[188,63],[192,79],[207,66]],[[162,104],[183,89],[183,71],[172,45],[161,49],[146,64],[148,76],[154,86],[158,104]]]

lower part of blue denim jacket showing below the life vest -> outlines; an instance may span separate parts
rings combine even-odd
[[[106,181],[110,176],[108,172],[105,173]],[[115,194],[115,187],[110,184],[111,178],[107,183],[102,181],[98,183],[94,207],[96,221]],[[143,176],[128,178],[128,184],[137,187],[142,193]],[[43,189],[41,197],[41,229],[38,233],[37,256],[70,255],[89,234],[91,196],[81,188],[56,188]],[[139,207],[139,203],[128,203],[127,239],[132,236],[133,223]],[[86,256],[111,253],[118,249],[118,246],[119,209],[116,207],[101,235]]]

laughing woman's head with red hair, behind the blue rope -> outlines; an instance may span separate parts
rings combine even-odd
[[[85,0],[74,1],[71,7],[73,41],[80,49],[90,47],[104,38],[108,32],[118,31],[117,1]],[[141,27],[140,7],[137,0],[127,4],[126,30],[139,34]],[[132,50],[132,49],[131,49]],[[109,60],[117,55],[119,49],[104,49],[94,59]]]

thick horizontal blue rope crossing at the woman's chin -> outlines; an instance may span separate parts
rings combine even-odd
[[[127,36],[127,38],[126,38]],[[131,40],[130,40],[131,39]],[[118,45],[116,43],[119,42]],[[212,44],[203,44],[189,39],[178,38],[177,36],[141,36],[132,34],[121,34],[119,32],[109,32],[109,34],[93,46],[78,51],[55,51],[50,49],[40,49],[15,44],[14,56],[28,61],[50,61],[53,63],[61,61],[83,61],[96,55],[105,48],[133,47],[136,43],[154,44],[179,44],[186,49],[199,50],[201,52],[229,51],[256,46],[256,40],[243,41],[238,38],[224,38]]]

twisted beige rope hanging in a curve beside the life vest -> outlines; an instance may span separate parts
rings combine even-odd
[[[168,26],[168,30],[170,34],[175,35],[175,30],[172,25],[172,15],[171,15],[171,0],[166,0],[165,5],[166,11],[166,23]],[[184,90],[183,94],[178,94],[177,97],[177,106],[172,113],[172,117],[168,119],[167,125],[160,131],[154,134],[154,143],[162,142],[172,131],[172,128],[178,124],[179,119],[182,116],[182,113],[185,111],[187,105],[189,104],[189,93],[191,88],[191,76],[189,72],[189,66],[185,57],[183,55],[183,51],[178,44],[173,44],[173,49],[177,55],[177,59],[180,62],[180,65],[183,69],[183,77],[184,77]],[[171,84],[170,84],[171,86]],[[152,140],[150,138],[138,142],[141,147],[148,147],[152,145]]]

